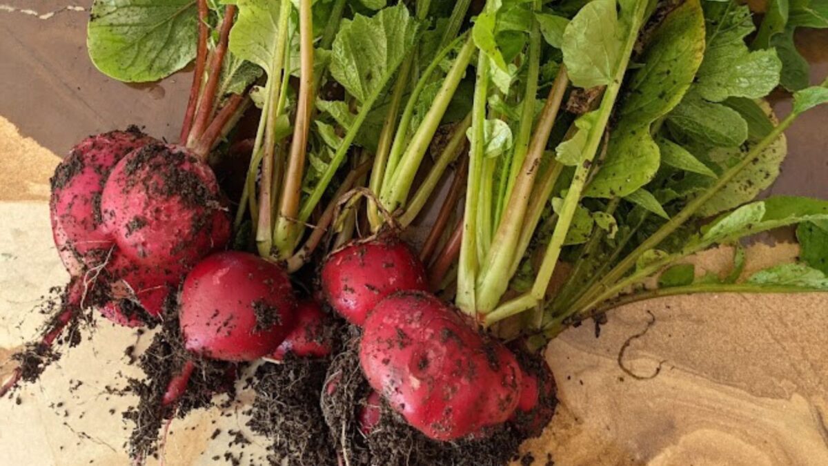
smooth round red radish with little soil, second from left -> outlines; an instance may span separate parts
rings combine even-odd
[[[223,361],[272,353],[293,329],[296,299],[287,274],[257,255],[210,255],[187,274],[179,323],[185,347]]]

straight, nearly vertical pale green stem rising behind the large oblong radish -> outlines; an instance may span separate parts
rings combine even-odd
[[[469,180],[466,183],[465,214],[463,216],[463,240],[460,243],[460,262],[457,269],[457,295],[455,303],[463,312],[474,315],[475,284],[478,258],[476,245],[477,201],[480,186],[481,163],[484,158],[484,125],[486,100],[489,95],[489,57],[481,53],[477,61],[474,80],[474,103],[471,113],[471,146],[469,148]]]

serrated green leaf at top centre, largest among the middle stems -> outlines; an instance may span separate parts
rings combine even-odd
[[[373,17],[343,19],[332,48],[330,74],[350,95],[366,102],[378,93],[412,51],[417,22],[407,7],[384,8]]]

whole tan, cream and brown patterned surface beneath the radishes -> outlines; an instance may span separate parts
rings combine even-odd
[[[128,124],[175,140],[183,114],[187,72],[128,86],[94,69],[84,45],[89,3],[0,0],[0,215],[8,220],[0,222],[0,371],[3,355],[40,319],[26,315],[31,303],[62,279],[44,203],[57,160],[52,153],[65,153],[86,134]],[[828,32],[802,34],[797,44],[814,64],[812,80],[828,75]],[[774,108],[785,114],[790,104],[780,96]],[[769,191],[828,198],[828,108],[797,121],[787,137],[782,176]],[[793,245],[758,245],[749,266],[796,254]],[[697,261],[701,269],[720,269],[728,256],[718,251]],[[583,326],[550,345],[561,408],[525,451],[541,465],[550,459],[826,465],[826,331],[826,295],[711,294],[620,308],[599,338]],[[117,331],[103,333],[110,332]],[[65,362],[64,373],[47,371],[46,381],[22,391],[22,405],[0,400],[0,464],[125,464],[118,450],[123,425],[106,416],[108,408],[87,407],[84,412],[94,412],[85,420],[67,422],[50,399],[60,397],[60,384],[84,378],[72,372],[88,364],[81,355],[99,359],[107,371],[126,370],[118,352],[123,346],[89,343]],[[99,396],[100,387],[79,390]],[[198,420],[217,418],[207,413]],[[171,442],[167,464],[211,463],[201,438],[209,432],[194,422],[187,424],[194,428],[190,434]],[[80,438],[78,425],[107,430],[107,441]]]

